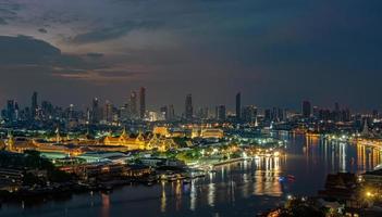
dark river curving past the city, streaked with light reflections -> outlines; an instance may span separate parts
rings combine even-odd
[[[329,173],[359,174],[381,162],[380,151],[362,145],[274,136],[288,141],[286,156],[220,166],[192,184],[127,186],[111,193],[2,204],[0,216],[256,216],[281,204],[288,194],[315,195]],[[295,180],[280,181],[287,175]]]

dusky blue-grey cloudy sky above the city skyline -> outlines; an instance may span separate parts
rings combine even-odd
[[[382,110],[380,0],[0,0],[0,105]]]

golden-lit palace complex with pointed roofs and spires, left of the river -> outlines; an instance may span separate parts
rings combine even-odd
[[[51,138],[14,138],[9,133],[8,139],[0,142],[0,149],[5,149],[11,152],[23,153],[27,150],[36,150],[46,153],[61,153],[69,156],[76,156],[88,151],[102,150],[158,150],[165,152],[171,149],[176,149],[178,145],[172,138],[162,135],[144,136],[139,132],[137,136],[130,136],[124,129],[118,137],[109,133],[100,140],[90,139],[85,136],[78,138],[61,137],[59,130]],[[120,149],[123,148],[123,149]]]

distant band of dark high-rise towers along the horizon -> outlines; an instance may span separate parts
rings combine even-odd
[[[20,101],[17,101],[17,99],[8,99],[5,102],[3,102],[3,106],[4,108],[7,108],[9,102],[13,102],[17,107],[30,107],[36,110],[37,107],[41,107],[44,106],[44,103],[52,103],[52,105],[54,106],[60,106],[60,107],[75,107],[76,110],[87,110],[87,108],[91,108],[95,106],[95,100],[97,101],[97,106],[99,105],[107,105],[107,104],[111,104],[112,106],[115,107],[123,107],[123,106],[132,106],[132,113],[134,113],[134,115],[136,115],[139,118],[144,118],[144,114],[145,112],[149,112],[149,111],[157,111],[160,112],[163,106],[172,106],[174,110],[174,105],[176,103],[169,103],[169,104],[159,104],[159,105],[152,105],[150,103],[147,103],[146,101],[146,88],[145,87],[140,87],[138,88],[138,90],[132,90],[130,92],[130,97],[126,101],[123,101],[121,103],[114,103],[113,101],[110,101],[108,99],[100,99],[98,97],[94,97],[91,99],[89,99],[89,101],[76,105],[73,103],[70,103],[67,105],[61,105],[61,104],[57,104],[54,101],[49,101],[47,99],[45,99],[44,97],[40,97],[39,92],[37,91],[33,91],[32,94],[32,100],[29,98],[29,102],[25,102],[25,104],[20,103]],[[139,91],[139,92],[137,92]],[[300,113],[304,117],[309,117],[310,115],[313,114],[315,108],[320,108],[320,110],[329,110],[329,111],[338,111],[338,110],[352,110],[352,112],[355,113],[361,113],[361,114],[372,114],[375,111],[379,111],[375,107],[369,107],[368,110],[365,111],[356,111],[353,107],[349,107],[348,105],[344,105],[341,104],[338,102],[332,102],[331,105],[320,105],[315,103],[313,101],[307,100],[307,99],[303,99],[300,102],[298,102],[296,105],[293,106],[293,108],[288,107],[288,106],[280,106],[280,105],[270,105],[270,106],[263,106],[263,105],[259,105],[259,104],[243,104],[242,103],[242,92],[237,92],[236,94],[233,94],[233,99],[231,99],[231,103],[229,104],[209,104],[209,105],[200,105],[200,104],[195,104],[194,102],[194,95],[192,93],[187,93],[184,95],[185,100],[185,104],[183,104],[177,108],[177,114],[178,115],[186,115],[186,111],[188,110],[188,117],[189,115],[195,115],[196,113],[198,113],[200,110],[202,108],[210,108],[211,111],[213,108],[215,108],[215,113],[218,114],[218,110],[221,110],[222,106],[224,107],[224,111],[226,111],[226,114],[231,113],[231,114],[236,114],[238,111],[243,112],[243,108],[247,107],[247,106],[255,106],[256,108],[259,110],[263,110],[263,112],[266,110],[271,110],[271,108],[283,108],[283,110],[288,110],[289,112],[296,112],[296,113]],[[1,104],[1,102],[0,102]],[[147,105],[149,105],[147,107]],[[227,110],[226,110],[227,108]],[[241,115],[237,118],[237,120],[241,119]]]

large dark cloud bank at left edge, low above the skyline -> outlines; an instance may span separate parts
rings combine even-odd
[[[126,65],[111,66],[99,61],[102,53],[61,53],[50,43],[28,36],[0,36],[0,71],[83,80],[95,84],[138,79],[145,72]],[[90,59],[88,61],[88,59]]]

